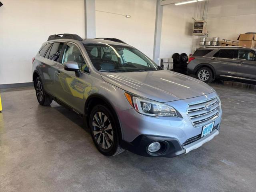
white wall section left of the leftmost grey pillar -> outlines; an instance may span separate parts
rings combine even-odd
[[[32,82],[32,58],[49,35],[85,36],[84,0],[1,0],[0,84]]]

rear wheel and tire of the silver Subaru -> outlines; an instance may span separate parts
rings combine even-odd
[[[48,94],[46,94],[46,92],[44,91],[44,87],[41,79],[37,77],[34,83],[35,83],[36,98],[38,100],[38,103],[43,106],[50,105],[52,103],[52,98]]]

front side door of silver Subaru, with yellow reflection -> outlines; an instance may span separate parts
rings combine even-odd
[[[75,72],[64,70],[64,62],[75,61],[78,63],[81,76],[77,77]],[[84,103],[87,93],[92,87],[89,76],[88,65],[80,48],[74,44],[67,42],[63,51],[61,62],[56,65],[55,87],[57,90],[57,98],[62,102],[75,109],[77,112],[84,112]]]

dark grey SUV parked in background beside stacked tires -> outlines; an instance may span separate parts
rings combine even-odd
[[[228,46],[198,48],[188,62],[188,73],[206,83],[223,79],[256,84],[256,49]]]

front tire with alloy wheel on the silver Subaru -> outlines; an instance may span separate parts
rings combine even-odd
[[[92,140],[99,152],[105,156],[115,156],[124,152],[119,145],[118,122],[103,105],[96,105],[90,114]]]

